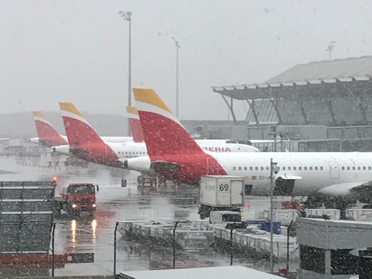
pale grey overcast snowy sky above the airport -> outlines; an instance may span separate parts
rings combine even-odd
[[[0,0],[0,112],[71,101],[124,114],[128,22],[119,10],[133,12],[132,85],[153,87],[173,112],[171,37],[179,40],[181,119],[227,119],[212,85],[262,82],[327,59],[329,41],[333,58],[372,54],[371,1]]]

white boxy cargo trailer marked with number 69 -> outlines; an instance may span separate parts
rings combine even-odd
[[[211,211],[241,212],[244,206],[244,178],[230,175],[205,175],[200,180],[200,218]]]

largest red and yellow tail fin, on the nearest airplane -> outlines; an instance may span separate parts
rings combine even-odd
[[[133,88],[149,156],[204,153],[151,88]]]

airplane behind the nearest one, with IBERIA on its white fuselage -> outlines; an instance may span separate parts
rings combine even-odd
[[[86,161],[115,167],[123,166],[118,161],[119,158],[131,158],[147,154],[146,144],[144,142],[107,142],[96,133],[72,103],[59,103],[59,106],[62,112],[69,146],[53,147],[57,152],[66,152],[69,149],[72,154]],[[169,130],[168,133],[172,134],[173,132]],[[259,151],[259,149],[253,146],[226,143],[226,140],[217,140],[216,142],[214,140],[198,140],[197,142],[201,148],[216,152]]]

